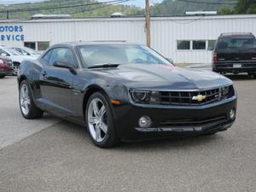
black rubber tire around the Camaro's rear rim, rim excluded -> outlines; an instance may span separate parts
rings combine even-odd
[[[21,110],[21,103],[20,103],[20,89],[22,87],[23,84],[26,84],[27,88],[28,88],[28,96],[30,98],[30,108],[28,109],[28,113],[25,114],[22,112]],[[32,90],[29,86],[29,84],[27,83],[26,80],[23,80],[20,84],[20,89],[19,89],[19,103],[20,103],[20,112],[22,114],[22,116],[25,118],[25,119],[39,119],[39,118],[42,118],[43,115],[44,115],[44,111],[42,111],[40,108],[38,108],[33,99],[32,99]]]

